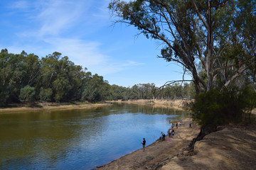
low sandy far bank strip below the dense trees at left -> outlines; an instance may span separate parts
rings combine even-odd
[[[53,102],[36,102],[33,105],[26,104],[12,104],[6,108],[0,108],[0,113],[10,113],[18,111],[53,111],[53,110],[68,110],[68,109],[86,109],[99,108],[102,106],[109,106],[110,103],[53,103]]]

